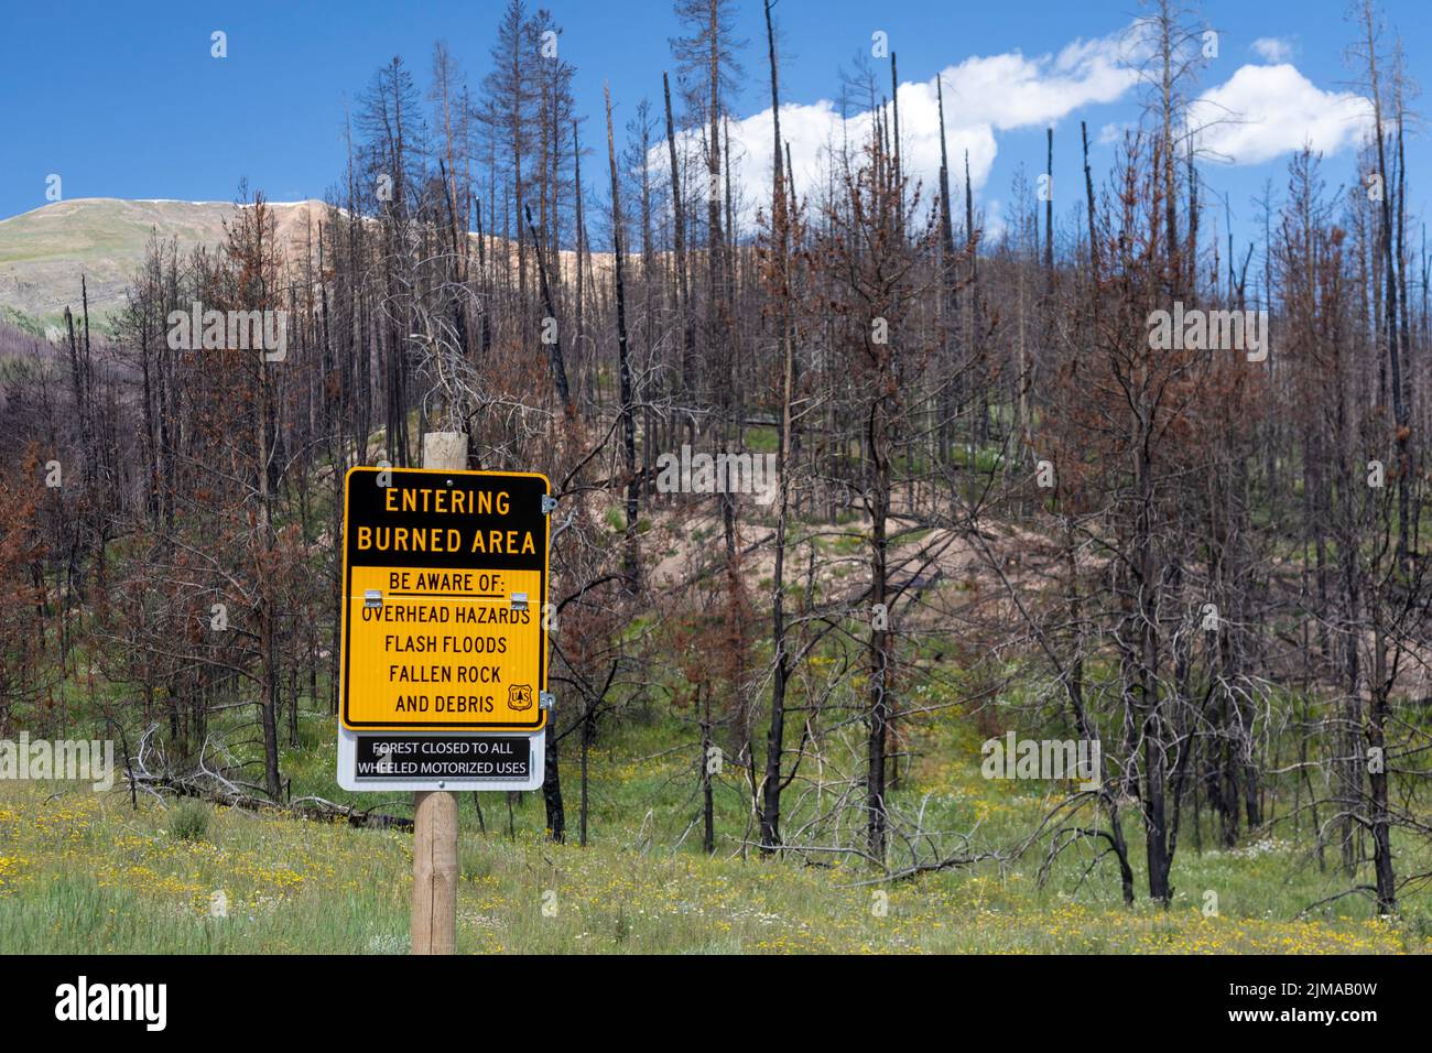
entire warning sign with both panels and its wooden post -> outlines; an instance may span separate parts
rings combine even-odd
[[[451,431],[344,484],[338,784],[414,792],[414,954],[457,950],[457,791],[543,782],[553,509]]]

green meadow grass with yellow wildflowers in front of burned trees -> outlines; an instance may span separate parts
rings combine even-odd
[[[951,711],[952,712],[952,711]],[[334,785],[329,718],[304,722],[284,756],[294,797],[410,814],[408,795]],[[569,842],[544,837],[540,794],[460,795],[458,950],[463,953],[1425,953],[1425,898],[1379,918],[1362,897],[1306,917],[1353,884],[1320,872],[1292,831],[1203,852],[1184,831],[1171,907],[1121,905],[1110,860],[1068,850],[1041,883],[1048,841],[1004,862],[879,883],[846,857],[742,858],[748,815],[737,774],[717,784],[717,852],[700,851],[695,749],[670,718],[632,719],[590,758],[590,845],[576,844],[577,758],[564,751]],[[925,719],[921,761],[894,795],[925,825],[971,832],[978,848],[1017,842],[1055,799],[1044,784],[979,776],[967,718]],[[571,739],[569,739],[570,742]],[[566,744],[564,744],[566,745]],[[855,744],[852,742],[853,748]],[[835,766],[835,759],[828,758]],[[833,792],[833,789],[832,789]],[[808,818],[790,797],[790,828]],[[508,805],[511,812],[508,814]],[[0,953],[355,953],[408,948],[411,837],[276,814],[209,808],[195,817],[119,787],[0,782]],[[1088,815],[1084,817],[1090,819]],[[1306,831],[1305,831],[1306,832]],[[1141,830],[1126,835],[1143,893]],[[1307,838],[1303,838],[1307,841]],[[954,844],[951,841],[951,844]],[[1329,851],[1329,864],[1336,854]],[[898,857],[896,857],[898,861]],[[1399,855],[1400,872],[1428,868]],[[1359,875],[1359,881],[1363,875]],[[1209,914],[1209,893],[1217,913]],[[215,897],[223,911],[215,911]],[[216,913],[225,915],[215,917]]]

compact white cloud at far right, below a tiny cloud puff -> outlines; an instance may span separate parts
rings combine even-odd
[[[1323,92],[1287,63],[1243,66],[1189,107],[1200,149],[1257,165],[1310,146],[1332,155],[1369,129],[1372,103],[1355,92]]]

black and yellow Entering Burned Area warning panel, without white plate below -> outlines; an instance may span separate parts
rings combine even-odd
[[[349,474],[348,728],[543,726],[547,491],[536,474]]]

